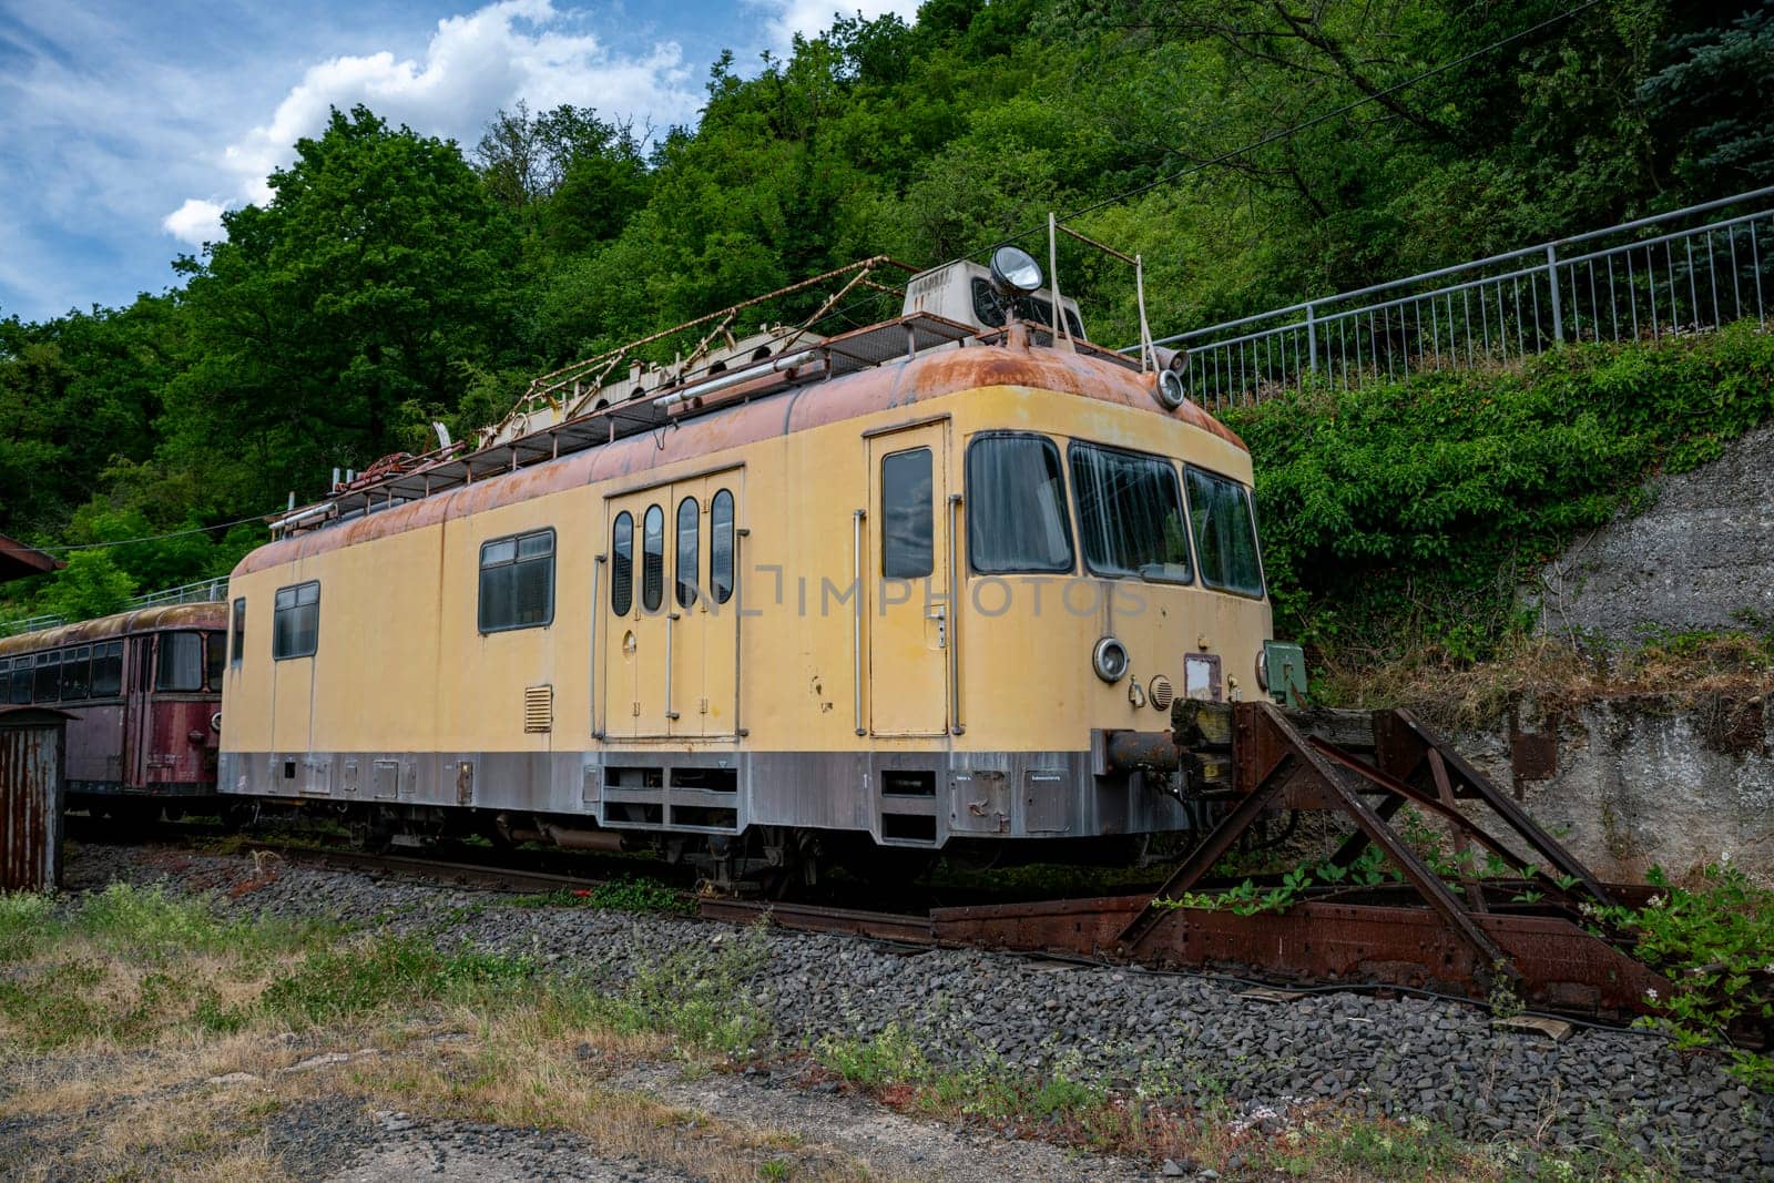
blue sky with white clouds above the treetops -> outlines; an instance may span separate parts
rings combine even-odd
[[[747,71],[834,12],[915,0],[195,4],[0,0],[0,317],[128,303],[263,200],[328,106],[465,147],[500,106],[692,122],[722,48]]]

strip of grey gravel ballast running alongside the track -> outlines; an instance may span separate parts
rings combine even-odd
[[[483,890],[279,866],[247,857],[90,848],[71,885],[170,880],[271,917],[328,915],[451,947],[525,954],[621,986],[637,967],[747,936],[706,921],[529,908]],[[250,883],[248,883],[250,881]],[[243,890],[243,885],[247,890]],[[1774,1098],[1714,1054],[1643,1032],[1579,1027],[1563,1043],[1499,1032],[1478,1007],[1439,999],[1311,993],[1242,999],[1242,984],[1185,974],[770,931],[747,990],[789,1048],[869,1038],[889,1023],[958,1068],[995,1064],[1139,1091],[1228,1101],[1277,1132],[1327,1103],[1425,1117],[1472,1142],[1632,1148],[1682,1174],[1774,1178]]]

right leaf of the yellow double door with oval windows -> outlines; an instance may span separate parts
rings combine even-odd
[[[671,486],[671,734],[731,736],[738,706],[734,601],[740,470]]]

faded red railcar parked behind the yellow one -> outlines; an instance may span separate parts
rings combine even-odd
[[[183,809],[216,791],[227,605],[181,603],[0,639],[0,702],[67,720],[71,803]]]

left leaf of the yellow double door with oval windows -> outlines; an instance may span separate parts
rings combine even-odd
[[[603,594],[603,733],[612,740],[671,734],[665,678],[674,610],[667,505],[671,490],[610,498],[608,591]]]

